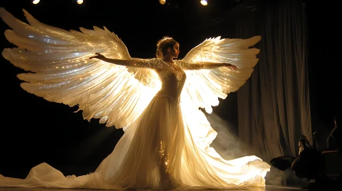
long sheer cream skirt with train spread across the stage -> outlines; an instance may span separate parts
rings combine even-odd
[[[256,156],[224,160],[215,149],[204,149],[193,131],[195,127],[184,125],[178,102],[155,97],[94,173],[65,177],[42,163],[26,179],[0,177],[0,186],[115,190],[265,186],[269,164]]]

